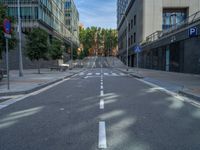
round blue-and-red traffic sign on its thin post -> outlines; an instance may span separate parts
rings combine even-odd
[[[6,39],[6,71],[7,71],[7,88],[10,90],[10,74],[9,74],[9,50],[8,39],[11,38],[11,23],[8,19],[3,22],[4,37]]]

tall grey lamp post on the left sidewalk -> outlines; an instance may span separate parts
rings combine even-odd
[[[20,17],[20,2],[17,1],[18,8],[18,36],[19,36],[19,76],[23,76],[23,61],[22,61],[22,31],[21,31],[21,17]]]

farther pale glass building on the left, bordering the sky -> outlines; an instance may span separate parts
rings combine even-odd
[[[79,12],[74,0],[65,0],[65,25],[74,37],[79,39]]]

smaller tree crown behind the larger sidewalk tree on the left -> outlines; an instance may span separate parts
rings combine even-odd
[[[53,38],[49,49],[50,58],[53,60],[62,59],[63,52],[63,43],[60,40]]]

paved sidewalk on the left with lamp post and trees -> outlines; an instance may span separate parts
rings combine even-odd
[[[0,96],[11,96],[19,94],[27,94],[39,90],[64,78],[73,76],[83,71],[83,69],[67,70],[65,72],[50,71],[49,69],[41,69],[41,74],[37,74],[37,70],[24,70],[24,76],[19,77],[18,71],[10,71],[10,90],[7,90],[7,79],[4,78],[0,82]]]

